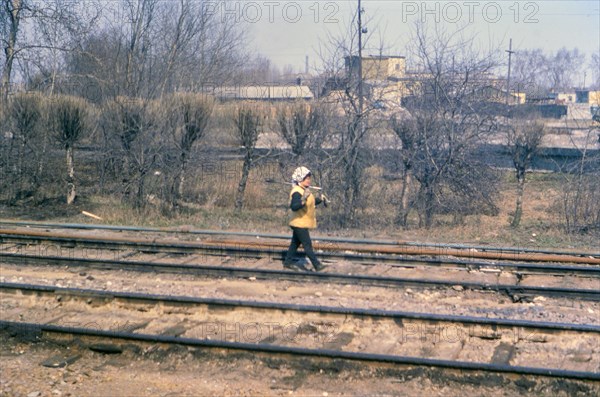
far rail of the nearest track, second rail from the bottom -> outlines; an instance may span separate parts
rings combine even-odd
[[[20,284],[20,283],[0,283],[0,290],[7,291],[26,291],[29,293],[46,293],[63,296],[77,296],[85,298],[98,299],[116,299],[124,301],[147,301],[152,304],[186,304],[186,305],[210,305],[210,306],[225,306],[225,307],[244,307],[250,309],[266,309],[266,310],[281,310],[295,311],[304,313],[318,314],[335,314],[335,315],[351,315],[356,317],[376,317],[376,318],[392,318],[392,319],[410,319],[419,321],[432,322],[450,322],[462,324],[476,324],[485,326],[501,326],[501,327],[520,327],[534,328],[538,330],[553,330],[553,331],[570,331],[570,332],[591,332],[600,333],[600,325],[592,324],[575,324],[575,323],[554,323],[547,321],[529,321],[529,320],[514,320],[504,318],[489,318],[475,316],[457,316],[448,314],[434,313],[419,313],[405,312],[394,310],[381,309],[360,309],[352,307],[335,307],[335,306],[314,306],[314,305],[299,305],[291,303],[278,302],[261,302],[249,300],[231,300],[231,299],[216,299],[216,298],[199,298],[191,296],[174,296],[160,294],[144,294],[136,292],[119,292],[119,291],[103,291],[82,288],[65,288],[50,285],[37,284]]]

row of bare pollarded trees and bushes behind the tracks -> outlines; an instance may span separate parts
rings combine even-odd
[[[360,168],[352,169],[347,116],[327,102],[220,103],[175,93],[94,105],[74,96],[19,93],[0,118],[0,200],[35,207],[99,195],[166,217],[198,206],[282,209],[288,188],[280,183],[297,164],[307,164],[335,203],[327,212],[331,227],[375,227],[383,214],[384,223],[404,228],[430,228],[448,216],[461,224],[469,215],[499,212],[506,171],[473,153],[484,143],[483,131],[502,128],[517,175],[512,223],[518,226],[525,175],[544,124],[515,119],[491,126],[490,118],[486,126],[479,112],[470,116],[478,124],[465,115],[460,125],[428,110],[431,98],[413,106],[406,117],[371,114],[354,159]],[[352,202],[348,170],[356,169],[359,194]],[[583,152],[580,168],[562,174],[555,208],[566,230],[597,232],[598,170],[597,153]]]

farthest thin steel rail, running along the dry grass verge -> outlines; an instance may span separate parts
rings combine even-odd
[[[23,227],[39,227],[39,228],[61,228],[61,229],[80,229],[80,230],[112,230],[112,231],[133,231],[146,233],[181,233],[181,234],[197,234],[197,235],[216,235],[216,236],[239,236],[239,237],[255,237],[255,238],[270,238],[289,240],[289,234],[270,234],[270,233],[254,233],[254,232],[233,232],[223,230],[209,229],[186,229],[182,227],[175,228],[151,228],[139,226],[120,226],[120,225],[98,225],[98,224],[82,224],[82,223],[42,223],[42,222],[23,222],[15,220],[1,220],[0,225],[7,226],[23,226]],[[380,240],[380,239],[356,239],[356,238],[340,238],[340,237],[322,237],[314,236],[313,240],[332,242],[332,243],[350,243],[350,244],[373,244],[373,245],[391,245],[391,246],[411,246],[423,248],[452,248],[452,249],[475,249],[488,252],[513,252],[513,253],[540,253],[548,255],[565,255],[565,256],[592,256],[600,257],[600,252],[581,253],[576,251],[561,251],[561,250],[541,250],[533,248],[518,248],[518,247],[496,247],[487,245],[466,245],[466,244],[441,244],[441,243],[423,243],[414,241],[402,240]]]

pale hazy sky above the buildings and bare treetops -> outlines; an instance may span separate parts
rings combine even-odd
[[[317,62],[319,41],[327,32],[337,34],[348,26],[357,0],[242,0],[228,1],[218,12],[239,12],[248,26],[253,46],[278,67],[291,64],[304,70]],[[405,55],[410,27],[418,19],[446,30],[467,26],[482,43],[513,50],[541,48],[545,52],[575,47],[586,54],[600,51],[600,0],[543,1],[399,1],[362,0],[367,28],[382,37],[390,55]],[[229,10],[229,11],[228,11]],[[367,49],[367,53],[368,53]]]

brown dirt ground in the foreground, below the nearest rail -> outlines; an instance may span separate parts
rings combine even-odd
[[[591,396],[596,383],[400,365],[127,345],[31,343],[0,333],[0,396]],[[63,362],[70,364],[60,367]],[[47,366],[44,366],[46,364]]]

